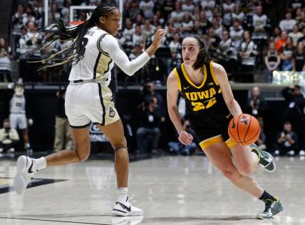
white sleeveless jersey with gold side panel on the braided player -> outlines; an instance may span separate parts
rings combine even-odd
[[[105,86],[109,85],[114,62],[110,55],[100,48],[100,40],[105,35],[109,34],[97,26],[88,30],[83,39],[83,45],[86,49],[83,59],[72,67],[70,81],[97,79],[103,81]]]

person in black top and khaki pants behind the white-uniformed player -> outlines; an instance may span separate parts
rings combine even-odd
[[[54,151],[58,152],[63,149],[73,150],[73,139],[71,136],[68,117],[65,111],[65,95],[66,91],[58,91],[57,109],[56,109],[56,125],[55,125],[55,141]]]

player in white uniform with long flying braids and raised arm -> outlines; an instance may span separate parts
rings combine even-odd
[[[128,202],[128,148],[123,125],[113,104],[108,84],[114,63],[130,76],[143,67],[159,48],[165,30],[159,29],[150,47],[130,62],[113,37],[118,33],[120,17],[118,8],[110,4],[102,4],[95,8],[91,18],[74,28],[65,28],[63,21],[57,19],[43,30],[50,35],[36,50],[46,48],[53,40],[73,40],[73,43],[62,51],[66,53],[72,50],[73,54],[56,65],[73,63],[65,107],[76,150],[62,150],[38,159],[20,156],[14,179],[14,187],[18,194],[24,193],[29,180],[38,170],[85,161],[90,153],[88,125],[93,122],[105,134],[115,150],[118,199],[113,207],[113,214],[117,216],[143,214],[142,209],[133,207]],[[53,57],[56,55],[50,58]]]

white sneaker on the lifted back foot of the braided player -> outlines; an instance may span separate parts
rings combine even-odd
[[[25,155],[19,156],[17,160],[17,174],[14,178],[14,189],[17,194],[24,194],[31,177],[37,172],[33,171],[33,159]]]

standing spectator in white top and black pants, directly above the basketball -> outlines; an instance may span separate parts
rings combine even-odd
[[[240,82],[254,82],[254,68],[257,56],[257,45],[251,40],[250,31],[244,31],[244,41],[239,47],[239,57],[241,58]]]

